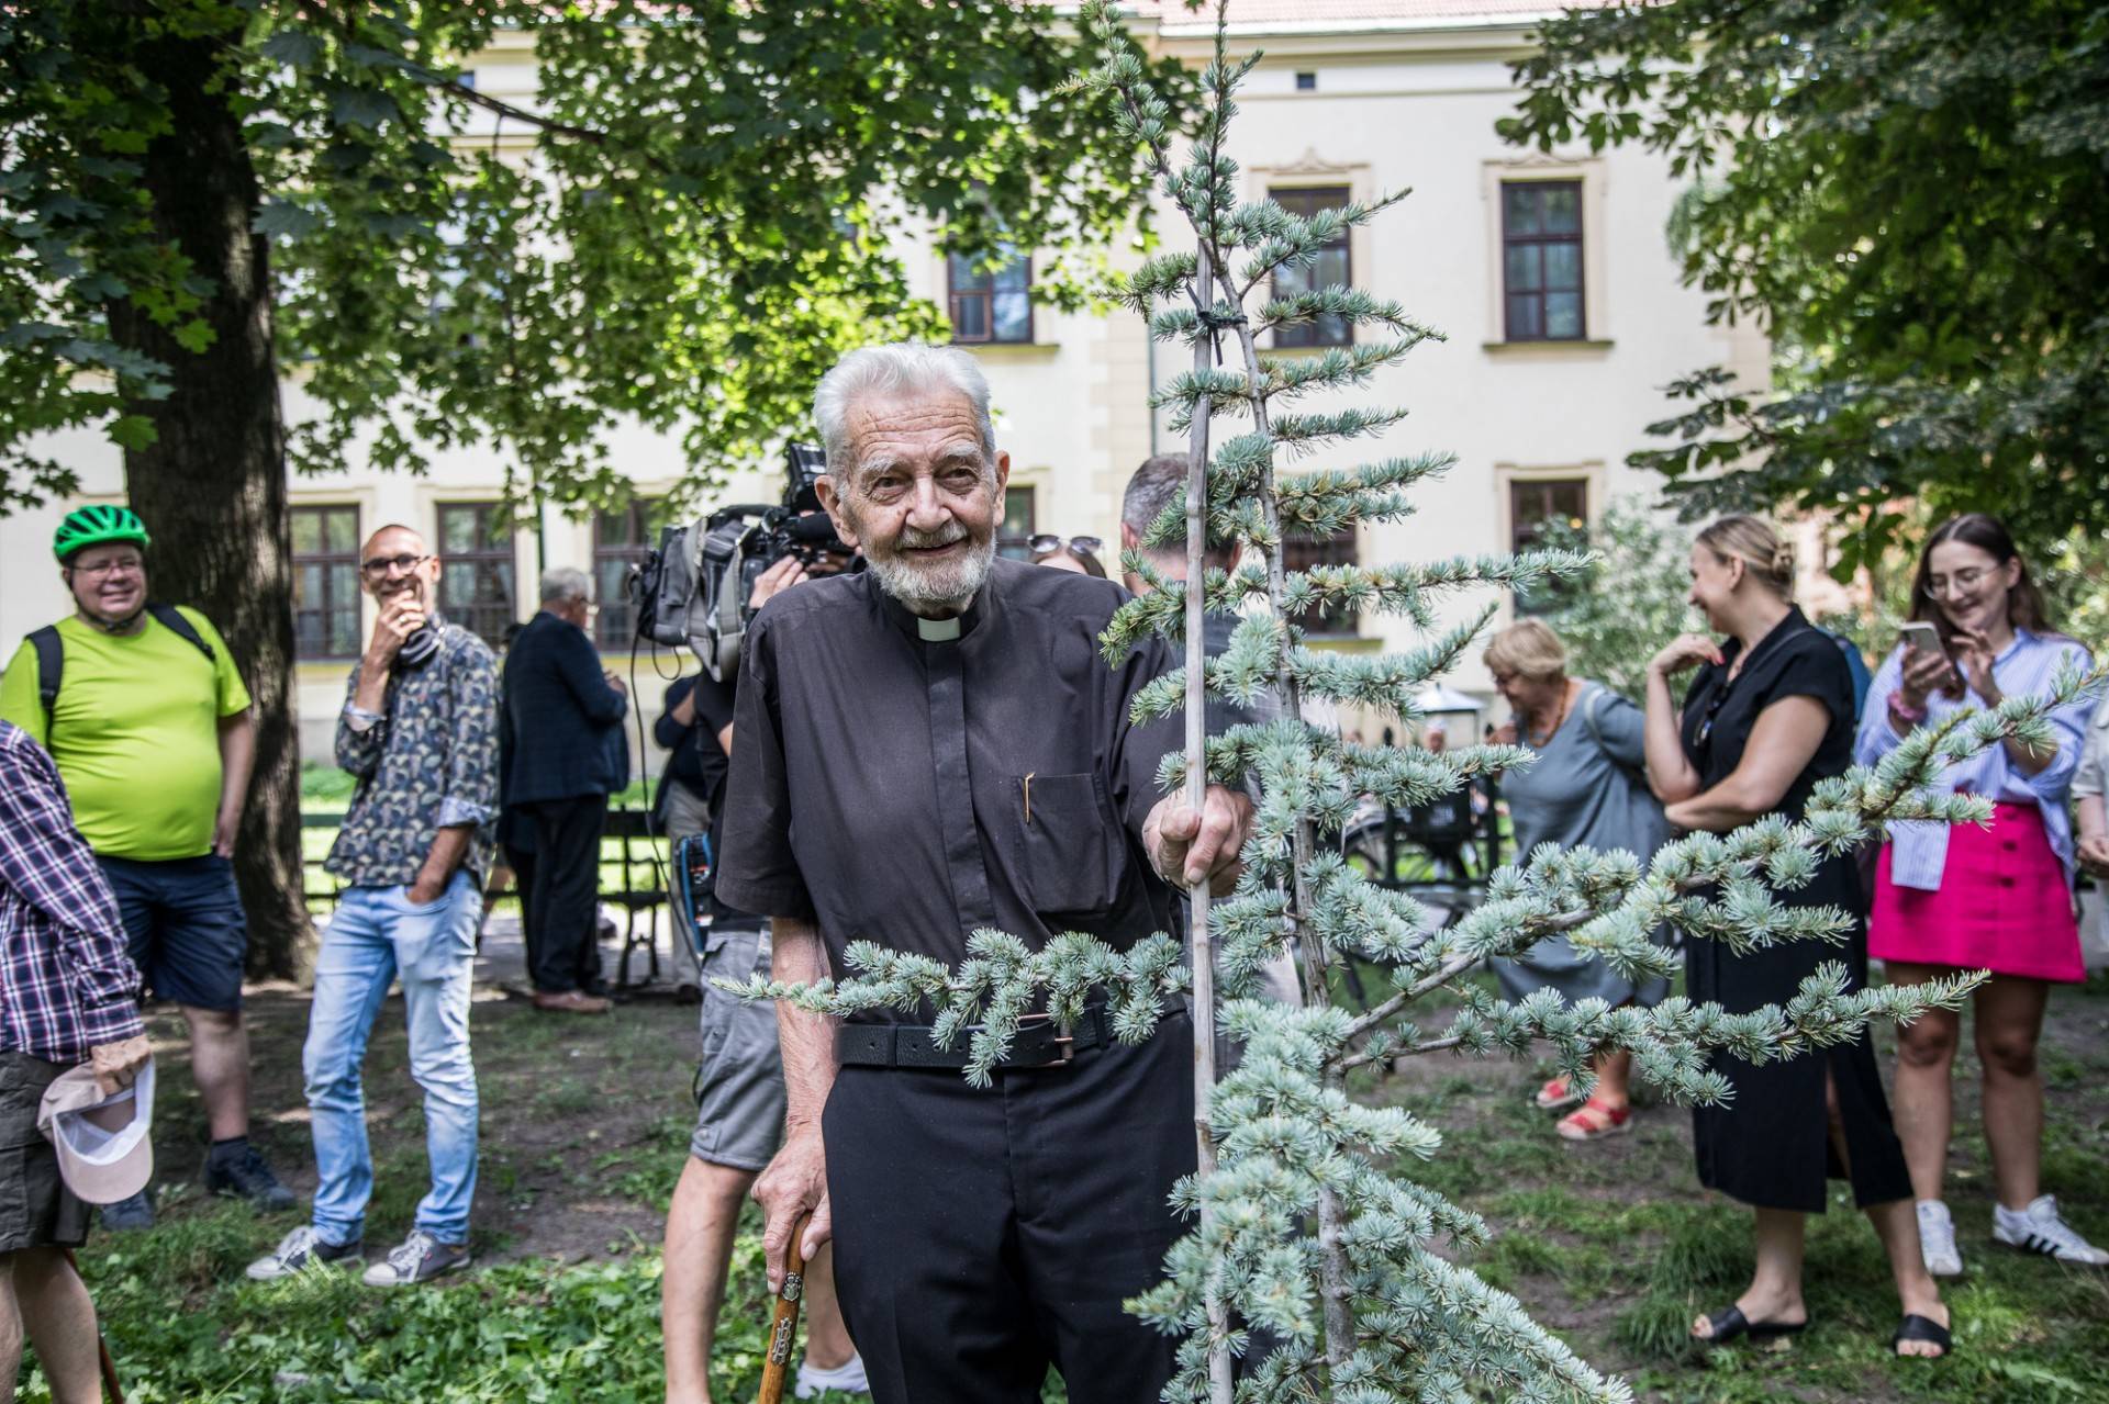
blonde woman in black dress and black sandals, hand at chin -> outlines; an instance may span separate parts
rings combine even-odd
[[[1649,784],[1677,828],[1729,833],[1767,814],[1801,818],[1818,780],[1852,765],[1854,694],[1845,656],[1788,601],[1793,552],[1755,516],[1725,516],[1691,548],[1691,603],[1727,635],[1685,635],[1647,668]],[[1702,664],[1683,708],[1670,677]],[[1704,938],[1685,947],[1694,1001],[1748,1014],[1786,1003],[1824,961],[1866,982],[1866,909],[1850,858],[1831,858],[1782,904],[1837,906],[1858,923],[1843,947],[1782,942],[1731,955]],[[1757,1271],[1731,1307],[1691,1324],[1696,1341],[1801,1330],[1801,1235],[1824,1212],[1826,1176],[1850,1178],[1854,1202],[1890,1254],[1904,1324],[1900,1356],[1940,1356],[1949,1311],[1919,1256],[1904,1151],[1890,1126],[1875,1052],[1862,1035],[1841,1048],[1753,1067],[1727,1054],[1715,1069],[1734,1086],[1727,1107],[1691,1113],[1700,1183],[1757,1210]]]

